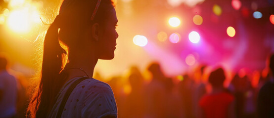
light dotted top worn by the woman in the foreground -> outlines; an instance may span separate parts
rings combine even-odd
[[[60,90],[48,118],[56,118],[62,99],[70,85],[80,77],[69,80]],[[80,82],[71,92],[61,118],[117,118],[117,106],[110,86],[89,78]]]

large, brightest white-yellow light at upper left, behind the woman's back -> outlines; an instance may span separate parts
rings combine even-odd
[[[12,11],[7,19],[10,29],[16,32],[27,32],[30,29],[30,22],[26,10]]]

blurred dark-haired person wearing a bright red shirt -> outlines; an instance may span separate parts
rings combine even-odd
[[[235,118],[234,96],[225,91],[225,79],[222,68],[210,73],[208,82],[212,86],[212,92],[204,95],[199,101],[201,118]]]

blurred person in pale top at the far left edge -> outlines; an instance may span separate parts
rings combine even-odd
[[[0,56],[0,118],[16,118],[17,80],[7,72],[7,63]]]

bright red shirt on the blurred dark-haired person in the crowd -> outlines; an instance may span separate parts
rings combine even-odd
[[[203,96],[199,105],[204,112],[205,118],[228,118],[228,106],[233,100],[233,95],[220,92]]]

